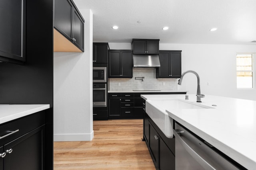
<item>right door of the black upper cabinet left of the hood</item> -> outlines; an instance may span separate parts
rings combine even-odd
[[[132,78],[132,51],[121,51],[121,76]]]

